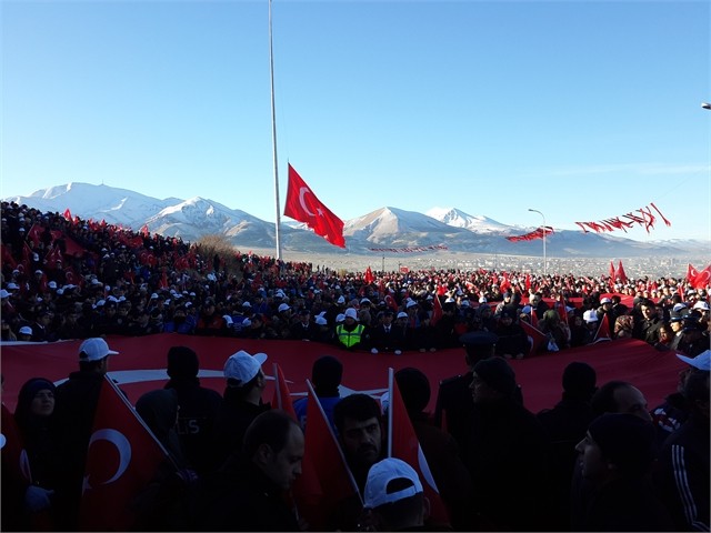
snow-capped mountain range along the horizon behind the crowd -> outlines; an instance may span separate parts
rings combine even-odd
[[[84,220],[103,219],[134,230],[147,224],[151,232],[180,237],[190,242],[208,234],[222,234],[238,249],[276,247],[273,223],[200,197],[159,200],[103,184],[68,183],[29,197],[6,198],[4,201],[59,213],[69,208],[72,214]],[[284,250],[313,253],[361,253],[373,248],[445,245],[453,252],[539,255],[540,241],[511,242],[505,239],[531,230],[533,228],[507,225],[454,208],[433,208],[422,214],[385,207],[346,221],[346,250],[332,247],[298,222],[284,221],[280,235]],[[641,243],[611,235],[557,231],[547,239],[547,248],[549,257],[611,258],[679,255],[708,250],[709,243]]]

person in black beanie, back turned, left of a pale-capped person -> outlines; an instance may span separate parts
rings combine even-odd
[[[222,396],[212,389],[200,385],[198,373],[200,361],[194,350],[188,346],[171,346],[168,350],[168,375],[166,389],[178,393],[178,436],[190,466],[199,474],[219,466],[213,464],[214,424]]]

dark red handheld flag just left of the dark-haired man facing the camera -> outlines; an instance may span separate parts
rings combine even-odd
[[[357,497],[361,501],[356,479],[346,463],[331,424],[311,382],[307,405],[307,432],[301,475],[293,485],[299,513],[311,531],[327,531],[329,515],[342,501]]]

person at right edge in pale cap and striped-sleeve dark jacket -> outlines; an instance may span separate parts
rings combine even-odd
[[[662,502],[669,507],[675,531],[709,531],[709,369],[711,350],[691,359],[678,355],[689,370],[681,393],[689,416],[665,441],[660,454],[655,482]]]

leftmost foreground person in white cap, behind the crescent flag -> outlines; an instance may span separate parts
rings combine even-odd
[[[79,371],[57,388],[54,421],[60,461],[57,486],[58,531],[79,531],[79,502],[84,481],[87,450],[99,395],[109,370],[109,359],[119,352],[101,338],[87,339],[79,346]]]

